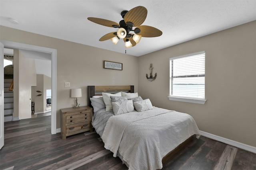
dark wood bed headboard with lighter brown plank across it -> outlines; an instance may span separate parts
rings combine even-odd
[[[101,96],[102,92],[106,92],[106,93],[117,93],[117,92],[134,93],[134,86],[88,86],[88,106],[92,107],[90,98],[92,98],[92,96]]]

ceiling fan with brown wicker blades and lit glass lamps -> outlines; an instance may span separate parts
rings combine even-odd
[[[146,20],[147,13],[148,10],[143,6],[137,6],[132,8],[130,11],[124,10],[121,12],[121,16],[124,20],[121,20],[119,24],[114,21],[101,18],[89,17],[87,19],[100,25],[118,28],[116,32],[103,35],[99,41],[111,39],[111,41],[116,45],[119,39],[123,39],[125,47],[129,48],[138,44],[141,37],[158,37],[162,35],[162,31],[155,27],[141,25]],[[133,27],[135,28],[133,29]],[[131,33],[130,31],[133,31],[134,33]]]

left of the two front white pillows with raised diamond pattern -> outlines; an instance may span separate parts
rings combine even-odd
[[[132,100],[125,100],[123,102],[112,102],[114,115],[128,113],[134,111]]]

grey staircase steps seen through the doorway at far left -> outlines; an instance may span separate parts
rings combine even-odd
[[[12,121],[13,92],[9,91],[12,79],[4,79],[4,122]]]

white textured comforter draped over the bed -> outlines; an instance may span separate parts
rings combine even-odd
[[[200,136],[190,115],[154,107],[111,116],[102,141],[114,157],[119,152],[129,170],[156,170],[168,152],[194,134]]]

